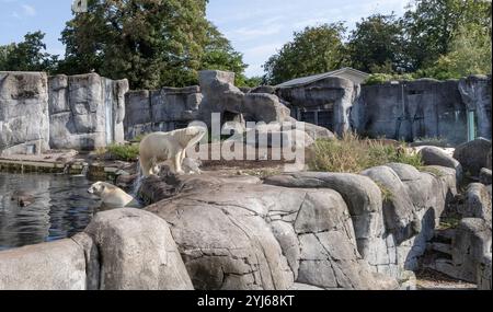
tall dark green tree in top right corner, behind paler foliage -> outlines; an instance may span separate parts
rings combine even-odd
[[[460,27],[478,25],[491,34],[491,1],[414,0],[403,16],[408,70],[433,65],[450,51]]]

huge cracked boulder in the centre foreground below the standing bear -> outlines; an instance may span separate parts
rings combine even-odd
[[[339,193],[200,180],[147,208],[171,224],[195,288],[397,287],[360,257]]]

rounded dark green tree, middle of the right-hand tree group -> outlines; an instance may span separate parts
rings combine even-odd
[[[402,69],[403,27],[392,13],[374,14],[356,23],[347,44],[349,63],[366,72],[392,73]]]

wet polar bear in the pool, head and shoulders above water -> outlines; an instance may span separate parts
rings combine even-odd
[[[89,194],[95,195],[103,200],[107,208],[140,208],[141,205],[122,188],[106,182],[96,182],[89,189]]]

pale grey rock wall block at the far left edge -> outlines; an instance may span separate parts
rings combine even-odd
[[[0,155],[49,149],[47,81],[43,72],[0,72]]]

